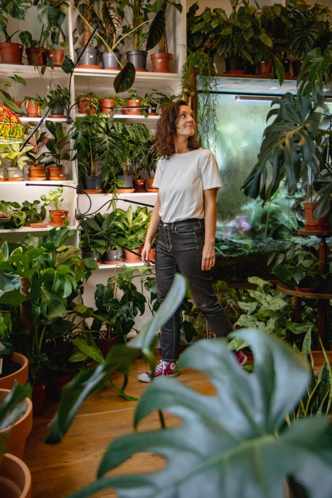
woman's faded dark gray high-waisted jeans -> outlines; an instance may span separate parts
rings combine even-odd
[[[204,220],[190,219],[159,225],[155,252],[158,301],[167,296],[175,273],[187,276],[193,300],[217,336],[233,330],[212,288],[210,271],[202,270],[205,239]],[[180,355],[180,313],[177,311],[161,330],[162,358],[176,361]]]

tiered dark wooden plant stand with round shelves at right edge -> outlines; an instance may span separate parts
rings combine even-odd
[[[322,272],[327,271],[327,258],[328,258],[328,245],[326,243],[327,238],[331,237],[331,232],[316,232],[307,230],[298,230],[299,235],[309,235],[318,237],[320,242],[319,258],[320,258],[320,270]],[[323,343],[325,349],[329,350],[328,343],[328,333],[329,333],[329,300],[332,299],[332,294],[325,294],[322,292],[299,292],[292,287],[279,283],[277,289],[283,294],[288,294],[292,296],[292,308],[293,308],[293,320],[294,322],[301,323],[302,317],[298,309],[301,304],[302,299],[317,299],[318,300],[318,319],[317,319],[317,349],[321,350],[320,339]]]

